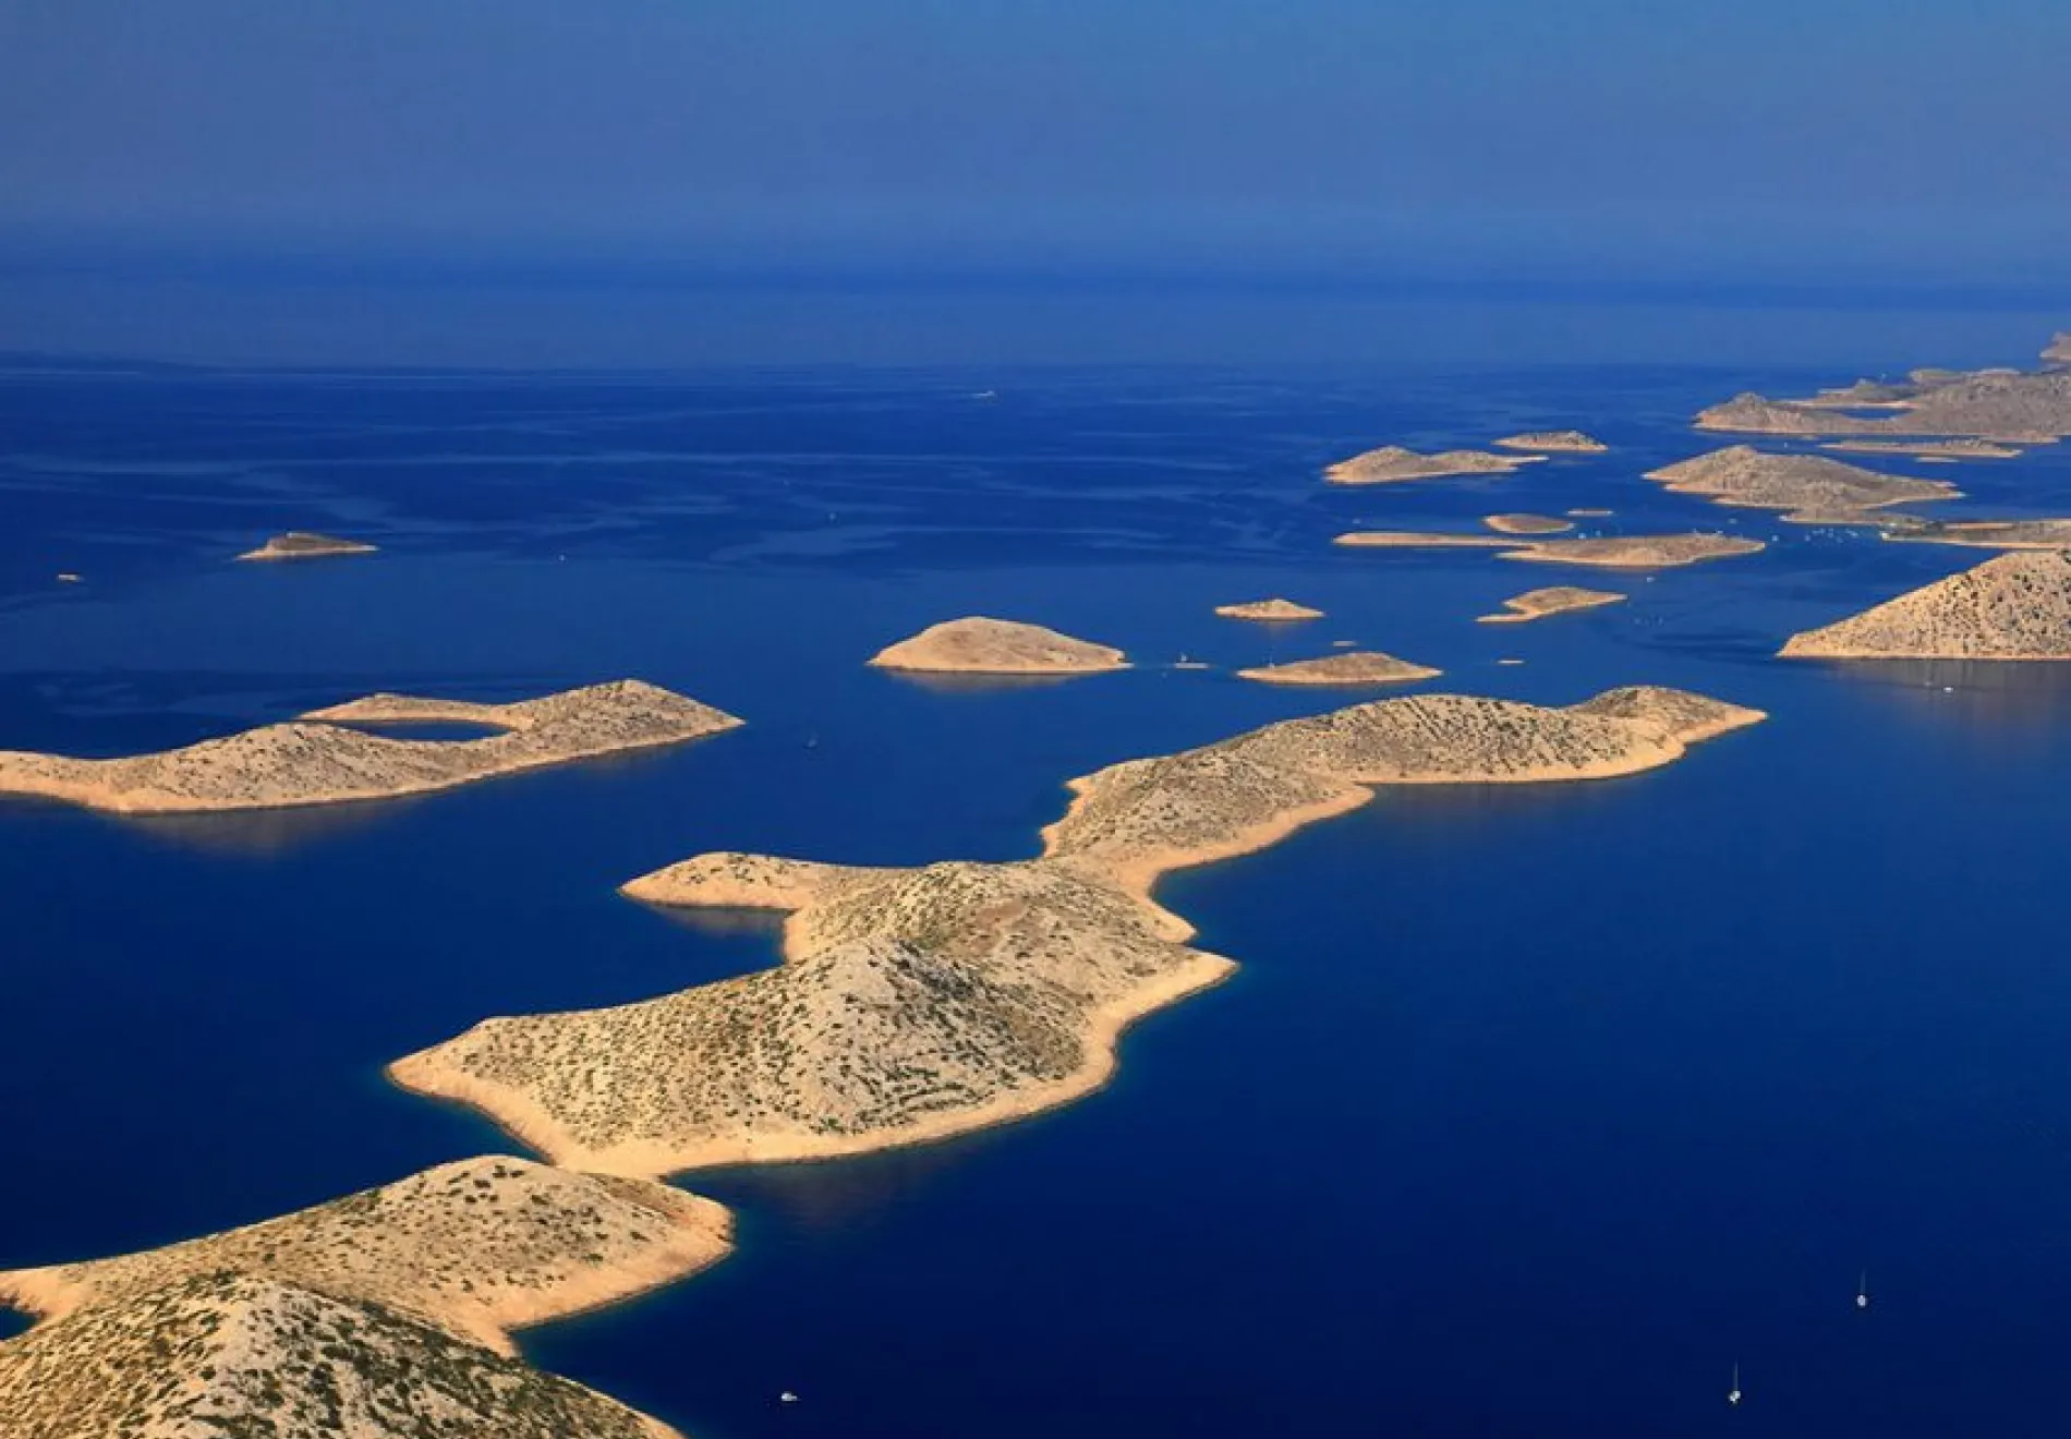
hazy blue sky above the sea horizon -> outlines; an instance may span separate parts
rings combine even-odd
[[[2071,0],[0,0],[0,238],[2023,277],[2067,68]]]

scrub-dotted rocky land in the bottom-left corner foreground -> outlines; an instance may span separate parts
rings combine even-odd
[[[667,1184],[526,1159],[122,1259],[0,1273],[0,1435],[669,1439],[514,1356],[509,1331],[694,1273],[731,1220]]]

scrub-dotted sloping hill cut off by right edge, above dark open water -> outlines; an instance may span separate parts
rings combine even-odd
[[[1822,629],[1791,658],[2071,660],[2071,555],[1996,555]]]

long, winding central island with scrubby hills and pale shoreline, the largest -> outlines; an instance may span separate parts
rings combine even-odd
[[[781,965],[615,1008],[491,1019],[389,1073],[605,1174],[820,1159],[1000,1124],[1096,1089],[1129,1023],[1230,973],[1151,901],[1162,876],[1263,849],[1385,785],[1634,774],[1758,718],[1673,689],[1568,708],[1414,696],[1073,781],[1036,859],[866,870],[700,855],[625,894],[787,911]]]

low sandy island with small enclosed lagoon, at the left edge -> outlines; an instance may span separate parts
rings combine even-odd
[[[472,739],[393,739],[352,725],[468,723]],[[184,750],[120,760],[0,752],[0,795],[112,814],[205,814],[393,799],[495,774],[675,745],[741,721],[638,679],[563,689],[516,704],[377,694],[298,721]]]

